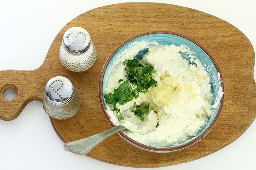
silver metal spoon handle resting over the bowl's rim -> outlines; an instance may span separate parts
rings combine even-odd
[[[87,138],[64,143],[63,148],[66,151],[69,151],[70,153],[78,156],[86,155],[90,150],[92,150],[96,145],[98,145],[101,141],[106,139],[108,136],[118,131],[121,131],[123,129],[126,129],[126,128],[123,127],[122,125],[119,125],[112,129],[98,133],[96,135],[89,136]]]

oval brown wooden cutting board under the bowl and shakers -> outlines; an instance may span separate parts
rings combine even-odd
[[[59,60],[62,36],[74,26],[85,28],[97,49],[95,64],[82,73],[68,71]],[[0,118],[15,119],[27,103],[32,100],[42,101],[45,85],[50,78],[65,76],[78,88],[82,101],[74,117],[67,120],[51,118],[53,128],[61,140],[69,142],[109,129],[98,94],[103,64],[124,40],[152,30],[187,35],[213,55],[225,84],[225,101],[220,119],[201,141],[173,153],[143,151],[114,134],[87,156],[122,166],[162,167],[209,155],[241,136],[256,116],[256,86],[253,78],[255,54],[251,43],[240,30],[215,16],[163,3],[119,3],[92,9],[70,21],[56,36],[45,61],[38,69],[0,72]],[[6,100],[2,93],[10,87],[18,95]]]

